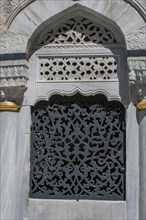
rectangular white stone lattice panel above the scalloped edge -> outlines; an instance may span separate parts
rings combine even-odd
[[[40,80],[107,80],[117,78],[114,57],[40,58]]]

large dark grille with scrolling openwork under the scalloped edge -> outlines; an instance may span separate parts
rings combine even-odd
[[[121,103],[55,95],[32,108],[30,197],[125,199]]]

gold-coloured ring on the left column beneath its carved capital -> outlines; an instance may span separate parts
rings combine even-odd
[[[0,111],[18,111],[21,106],[15,102],[0,102]]]

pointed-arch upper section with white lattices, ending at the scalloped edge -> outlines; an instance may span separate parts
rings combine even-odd
[[[57,89],[98,90],[129,103],[124,35],[94,10],[75,4],[47,19],[32,34],[27,52],[35,66],[35,98],[45,99]]]

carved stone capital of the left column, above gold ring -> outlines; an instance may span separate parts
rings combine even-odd
[[[28,62],[26,60],[3,61],[0,64],[0,102],[22,103],[27,90]]]

